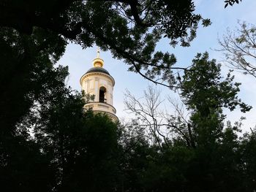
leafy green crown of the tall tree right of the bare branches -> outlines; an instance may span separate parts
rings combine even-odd
[[[208,61],[208,53],[197,54],[192,62],[181,83],[181,95],[189,109],[200,111],[208,108],[209,112],[222,107],[234,110],[239,106],[242,112],[246,112],[252,108],[238,99],[239,83],[233,83],[234,77],[230,73],[222,80],[220,64],[215,60]]]

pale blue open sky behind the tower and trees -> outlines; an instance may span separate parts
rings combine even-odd
[[[216,51],[219,48],[218,38],[226,33],[227,28],[230,31],[238,28],[238,20],[246,23],[255,24],[256,22],[256,1],[242,0],[240,4],[235,4],[233,7],[228,6],[224,9],[223,0],[196,0],[195,12],[203,16],[203,18],[211,19],[211,26],[203,28],[200,26],[197,30],[197,37],[192,42],[190,47],[171,47],[167,39],[162,39],[157,45],[157,50],[163,52],[174,53],[177,58],[177,66],[189,66],[192,59],[197,53],[208,52],[210,58],[215,58],[219,63],[223,63],[224,56],[221,52]],[[73,89],[80,91],[80,77],[92,67],[92,61],[97,56],[97,47],[90,47],[85,50],[80,45],[67,45],[66,52],[60,59],[58,64],[69,66],[69,77],[67,85]],[[123,61],[116,60],[110,52],[100,52],[100,58],[105,62],[104,68],[114,77],[116,85],[113,91],[113,106],[116,108],[119,119],[128,119],[130,115],[124,110],[124,93],[129,90],[136,97],[143,96],[143,91],[148,85],[152,85],[148,80],[140,77],[139,74],[127,72],[128,66]],[[222,72],[228,71],[225,64],[222,65]],[[252,105],[253,109],[246,114],[239,110],[227,112],[227,119],[232,122],[238,120],[241,116],[246,116],[244,120],[244,129],[249,130],[249,127],[256,125],[256,78],[245,76],[244,74],[234,72],[235,81],[241,82],[241,91],[239,97],[246,103]],[[155,86],[155,85],[154,85]],[[162,93],[162,99],[167,96],[176,98],[177,94],[170,91],[168,88],[159,87]]]

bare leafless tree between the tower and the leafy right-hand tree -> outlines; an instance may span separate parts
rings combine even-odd
[[[157,88],[149,86],[144,91],[143,97],[139,99],[129,91],[125,96],[126,110],[135,115],[135,123],[138,123],[146,131],[147,136],[155,145],[162,148],[169,145],[172,139],[179,137],[188,146],[194,146],[191,127],[184,117],[184,111],[170,98],[168,99],[169,104],[174,107],[176,114],[173,115],[169,111],[161,110],[161,106],[167,107],[167,103],[161,99],[161,92]],[[167,109],[170,109],[171,106]]]

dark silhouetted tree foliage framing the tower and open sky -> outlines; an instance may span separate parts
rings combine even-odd
[[[191,0],[1,1],[1,191],[256,191],[256,131],[241,135],[223,113],[251,109],[239,83],[207,53],[184,69],[155,50],[162,37],[189,46],[210,23],[194,11]],[[122,125],[85,110],[89,96],[67,88],[67,67],[55,66],[68,42],[96,44],[130,71],[178,85],[189,120],[169,115],[163,133],[154,110],[151,130],[142,112]]]

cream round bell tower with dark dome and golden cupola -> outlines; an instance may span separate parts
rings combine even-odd
[[[86,94],[94,95],[94,101],[89,101],[84,107],[92,108],[94,112],[106,113],[112,120],[117,121],[116,109],[113,107],[113,88],[114,78],[103,68],[104,61],[99,58],[99,49],[97,58],[94,58],[93,65],[80,78],[80,85]]]

